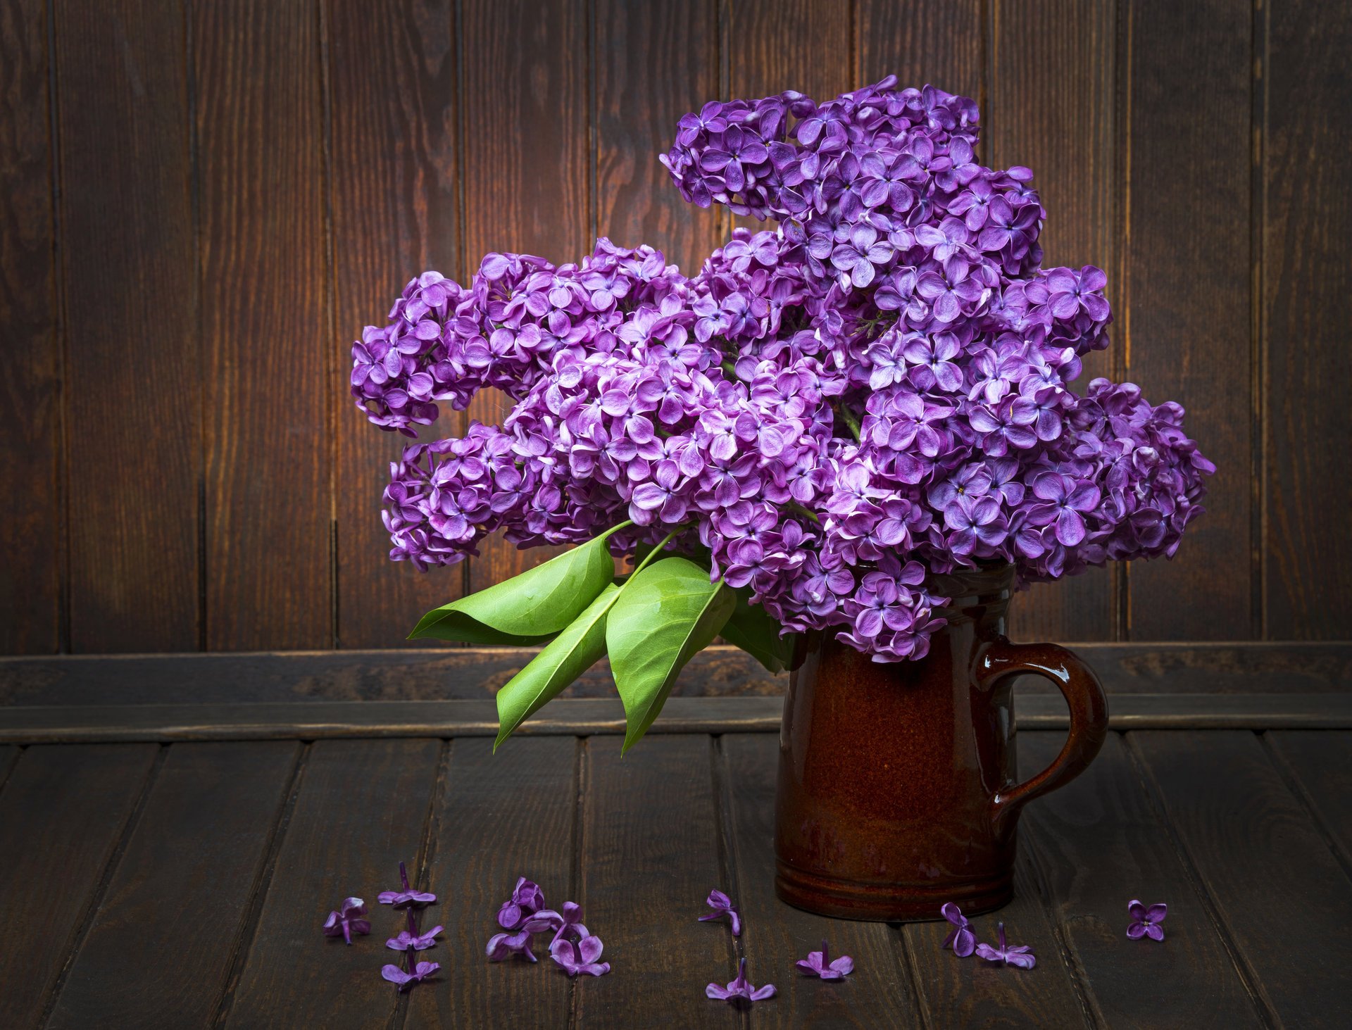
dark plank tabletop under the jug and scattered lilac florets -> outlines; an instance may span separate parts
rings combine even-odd
[[[1344,1025],[1352,731],[1119,725],[1088,773],[1028,808],[1015,900],[973,919],[980,939],[999,919],[1011,942],[1032,945],[1037,968],[1022,972],[942,950],[942,922],[833,921],[777,902],[773,723],[730,706],[719,725],[718,699],[700,700],[710,704],[704,722],[658,723],[623,758],[595,716],[573,730],[556,720],[496,756],[473,720],[469,735],[454,722],[418,735],[388,712],[373,715],[373,737],[346,725],[247,739],[238,727],[257,726],[254,712],[224,734],[246,739],[141,725],[119,742],[76,733],[0,745],[3,1022]],[[80,725],[78,711],[66,715]],[[8,719],[19,727],[9,739],[43,739],[34,718],[11,710],[0,738]],[[1021,764],[1046,765],[1061,738],[1025,723]],[[384,941],[400,914],[375,903],[400,860],[441,899],[425,926],[445,926],[426,956],[439,977],[408,995],[380,977],[397,958]],[[569,981],[548,958],[485,960],[518,876],[556,907],[583,906],[608,976]],[[715,887],[740,904],[738,939],[698,922]],[[373,923],[352,948],[320,933],[347,895],[368,900]],[[1163,943],[1126,938],[1133,898],[1168,903]],[[795,971],[822,938],[853,956],[846,980]],[[779,987],[749,1012],[704,996],[742,956],[753,983]]]

